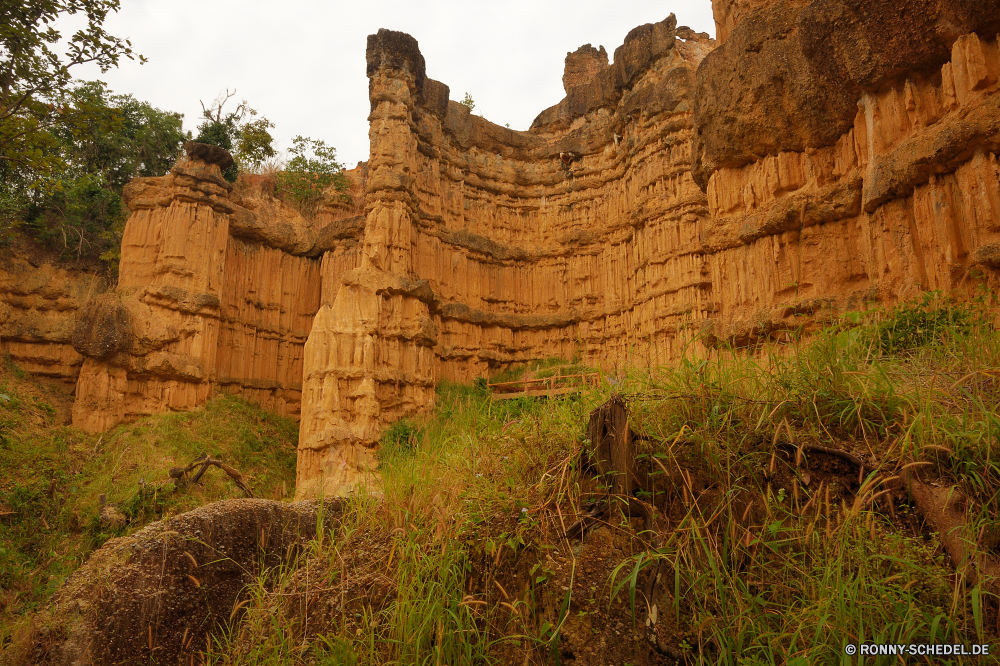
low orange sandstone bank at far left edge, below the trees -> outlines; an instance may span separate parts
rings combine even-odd
[[[32,374],[75,383],[83,365],[72,344],[76,313],[105,283],[22,254],[0,258],[0,353]]]

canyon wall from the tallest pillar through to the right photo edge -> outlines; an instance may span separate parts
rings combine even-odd
[[[614,370],[812,330],[1000,268],[1000,2],[720,0],[567,55],[527,132],[369,37],[362,257],[306,344],[300,496],[371,474],[442,379]],[[336,294],[336,296],[333,296]]]

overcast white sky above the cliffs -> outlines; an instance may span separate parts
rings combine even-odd
[[[468,92],[476,113],[523,130],[562,99],[567,51],[590,43],[613,57],[629,30],[671,12],[715,36],[710,0],[123,0],[105,27],[149,62],[76,76],[179,111],[190,130],[199,100],[236,89],[230,104],[245,98],[274,122],[279,149],[323,139],[353,167],[368,159],[365,45],[379,28],[413,35],[452,99]]]

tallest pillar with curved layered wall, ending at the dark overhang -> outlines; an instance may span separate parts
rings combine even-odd
[[[361,259],[323,276],[300,497],[363,480],[381,426],[430,407],[442,379],[550,356],[660,363],[697,344],[713,306],[692,92],[712,42],[675,26],[636,28],[613,64],[603,47],[569,54],[566,98],[527,132],[450,102],[409,35],[369,37]]]

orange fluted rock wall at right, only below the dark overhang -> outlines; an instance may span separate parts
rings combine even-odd
[[[951,55],[862,93],[833,145],[712,173],[718,338],[780,339],[926,289],[1000,287],[1000,51],[971,33]]]

